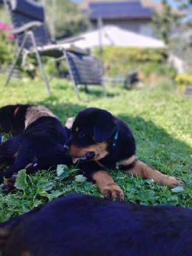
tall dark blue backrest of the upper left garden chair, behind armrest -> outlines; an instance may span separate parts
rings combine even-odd
[[[18,28],[31,21],[40,21],[42,26],[33,29],[37,46],[47,45],[51,42],[51,36],[45,24],[44,7],[36,0],[3,0],[9,12],[13,28]],[[24,33],[17,36],[17,44],[20,46]],[[31,38],[28,38],[25,48],[33,46]]]

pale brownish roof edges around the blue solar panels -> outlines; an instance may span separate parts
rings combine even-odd
[[[81,0],[81,2],[78,3],[79,9],[80,10],[88,10],[90,8],[90,3],[114,3],[114,2],[138,2],[138,0]],[[143,5],[145,8],[150,8],[156,10],[157,13],[161,14],[163,10],[163,6],[161,3],[157,3],[156,1],[153,0],[139,0],[140,3]],[[172,8],[173,13],[177,13],[179,15],[183,15],[184,13]]]

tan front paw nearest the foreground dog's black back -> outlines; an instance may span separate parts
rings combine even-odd
[[[101,193],[109,200],[115,199],[118,202],[122,202],[125,199],[124,192],[117,184],[109,184],[105,186]]]

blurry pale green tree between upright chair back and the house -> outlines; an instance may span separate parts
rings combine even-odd
[[[44,0],[47,24],[52,37],[76,35],[88,26],[88,20],[70,0]]]

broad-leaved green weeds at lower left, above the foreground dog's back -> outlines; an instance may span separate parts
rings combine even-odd
[[[74,173],[74,170],[72,169],[70,172]],[[77,183],[75,178],[78,179],[79,175],[72,175],[70,179],[66,180],[65,185],[61,181],[62,179],[58,179],[55,176],[55,171],[42,171],[37,172],[35,176],[31,177],[26,175],[26,170],[20,170],[15,183],[16,193],[13,192],[9,195],[1,194],[0,221],[8,220],[38,205],[68,195],[68,193],[80,192],[79,189],[81,187],[83,189],[86,188],[86,193],[89,194],[90,191],[91,194],[92,187],[94,187],[94,185],[85,182],[85,180],[81,184]]]

